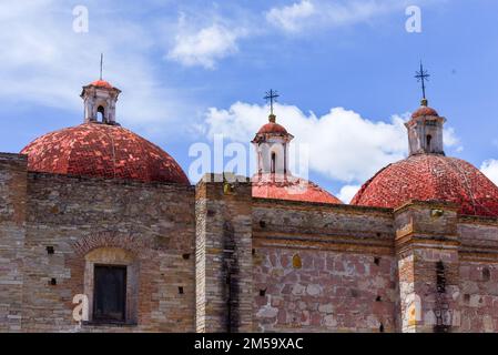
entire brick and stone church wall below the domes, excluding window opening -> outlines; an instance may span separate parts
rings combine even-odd
[[[32,173],[0,154],[0,331],[498,331],[498,219],[255,199],[212,178]],[[72,317],[95,263],[129,270],[125,324]]]

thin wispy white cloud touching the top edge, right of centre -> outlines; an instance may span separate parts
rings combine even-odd
[[[302,0],[291,6],[275,7],[266,20],[288,32],[316,27],[335,28],[368,21],[374,17],[405,9],[404,0]]]

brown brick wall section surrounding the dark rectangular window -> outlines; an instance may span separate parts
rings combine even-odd
[[[30,173],[27,201],[23,332],[194,331],[192,186]],[[112,264],[106,248],[134,258],[134,314],[124,326],[79,327],[72,300],[89,293],[85,256],[102,250]]]

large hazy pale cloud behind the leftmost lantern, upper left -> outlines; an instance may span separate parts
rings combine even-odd
[[[122,90],[118,121],[142,128],[173,122],[187,105],[161,82],[151,62],[150,51],[157,44],[153,27],[101,1],[85,4],[89,32],[77,33],[71,4],[0,2],[0,43],[8,49],[0,51],[0,98],[82,112],[81,87],[98,79],[103,52],[104,79]]]

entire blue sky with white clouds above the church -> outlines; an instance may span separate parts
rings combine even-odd
[[[80,124],[81,87],[104,52],[104,79],[123,91],[118,121],[185,171],[195,142],[248,142],[273,88],[277,121],[311,146],[309,178],[348,199],[406,155],[421,59],[429,104],[448,119],[447,155],[498,181],[496,1],[18,2],[0,0],[0,151]],[[77,6],[88,32],[73,30]],[[405,29],[408,6],[421,10],[420,33]]]

